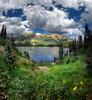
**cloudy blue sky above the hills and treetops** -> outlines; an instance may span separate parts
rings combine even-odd
[[[5,24],[8,34],[76,36],[86,22],[92,26],[92,0],[0,0],[0,28]]]

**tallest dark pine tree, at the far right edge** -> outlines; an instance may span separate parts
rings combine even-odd
[[[84,48],[86,50],[86,63],[89,75],[92,75],[92,31],[89,30],[88,25],[85,26]]]

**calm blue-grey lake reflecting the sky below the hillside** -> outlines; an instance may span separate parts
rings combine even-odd
[[[60,47],[17,47],[19,52],[24,54],[28,52],[30,59],[35,62],[54,62],[59,59]],[[64,54],[67,53],[67,48],[64,49]]]

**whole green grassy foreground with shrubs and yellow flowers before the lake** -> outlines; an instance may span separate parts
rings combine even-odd
[[[70,57],[68,64],[66,57],[62,64],[40,67],[15,55],[16,63],[7,66],[0,47],[0,100],[89,100],[92,78],[86,73],[83,55]]]

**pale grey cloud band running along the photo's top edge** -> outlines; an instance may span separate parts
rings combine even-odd
[[[1,0],[3,1],[3,0]],[[63,7],[73,7],[75,9],[78,9],[80,6],[81,0],[54,0],[58,4],[61,4]],[[51,6],[53,0],[4,0],[5,3],[8,3],[9,6],[12,8],[23,8],[27,4],[35,4],[35,5],[45,5],[45,6]]]

